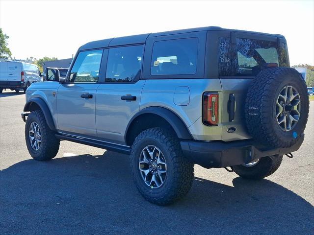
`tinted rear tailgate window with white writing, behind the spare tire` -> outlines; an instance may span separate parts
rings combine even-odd
[[[256,76],[267,63],[289,67],[287,44],[237,38],[232,45],[229,37],[218,40],[219,76]]]

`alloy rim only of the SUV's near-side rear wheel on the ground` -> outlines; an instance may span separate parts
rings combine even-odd
[[[167,164],[163,153],[154,145],[146,146],[139,157],[139,170],[150,188],[160,188],[166,178]]]

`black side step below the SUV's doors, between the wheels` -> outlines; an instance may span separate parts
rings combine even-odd
[[[123,153],[123,154],[130,154],[131,153],[131,147],[115,144],[115,143],[108,143],[103,141],[96,141],[96,140],[90,140],[90,139],[84,139],[84,138],[78,138],[73,136],[66,136],[66,135],[60,135],[55,134],[55,137],[59,140],[65,140],[65,141],[72,141],[76,143],[82,143],[89,146],[97,147],[97,148],[103,148],[106,150]]]

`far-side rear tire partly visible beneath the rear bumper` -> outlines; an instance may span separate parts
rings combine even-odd
[[[267,156],[251,167],[244,165],[233,166],[234,172],[246,179],[262,179],[273,174],[283,161],[283,156]]]

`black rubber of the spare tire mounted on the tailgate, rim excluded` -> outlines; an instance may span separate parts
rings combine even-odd
[[[300,117],[290,131],[280,128],[276,119],[276,102],[285,86],[293,86],[300,94]],[[260,143],[275,148],[288,148],[304,132],[309,116],[309,97],[302,75],[292,68],[268,68],[252,81],[245,100],[248,132]]]

